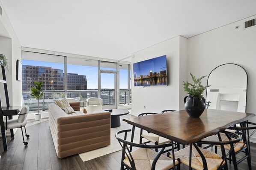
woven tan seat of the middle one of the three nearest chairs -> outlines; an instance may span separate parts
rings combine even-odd
[[[181,163],[189,166],[189,150],[190,150],[190,147],[188,146],[182,150],[175,152],[174,153],[175,158],[180,158]],[[225,161],[223,161],[220,155],[213,153],[209,150],[205,150],[201,147],[199,147],[199,150],[205,156],[208,170],[217,170],[218,167],[225,164]],[[173,158],[171,154],[169,155],[169,157]],[[191,167],[196,170],[203,170],[202,158],[193,145],[192,145]]]

